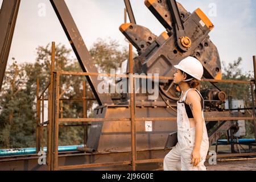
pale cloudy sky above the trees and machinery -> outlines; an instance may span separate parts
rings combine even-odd
[[[3,0],[0,0],[0,5]],[[119,31],[123,23],[123,0],[66,0],[67,6],[88,48],[98,38],[114,39],[127,46]],[[165,31],[162,24],[144,5],[144,0],[130,0],[137,24],[155,35]],[[256,1],[254,0],[180,0],[189,12],[198,7],[214,24],[210,39],[216,45],[221,62],[243,59],[243,71],[253,71],[252,56],[256,55]],[[52,41],[71,48],[59,20],[48,0],[22,0],[9,55],[18,63],[34,62],[36,47]],[[75,54],[73,54],[75,56]],[[121,60],[123,61],[123,60]]]

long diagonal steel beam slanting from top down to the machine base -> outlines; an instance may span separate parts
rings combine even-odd
[[[97,68],[95,67],[92,57],[88,49],[85,46],[84,40],[80,35],[80,32],[76,26],[75,21],[72,18],[70,11],[64,0],[50,0],[53,9],[57,17],[60,20],[61,26],[63,27],[65,34],[68,37],[69,43],[79,60],[82,71],[97,73]],[[100,83],[97,80],[97,76],[86,76],[90,87],[92,88],[93,94],[96,97],[99,105],[113,104],[113,101],[108,93],[99,93],[97,90],[97,85]]]

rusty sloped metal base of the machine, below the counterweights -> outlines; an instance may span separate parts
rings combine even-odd
[[[176,117],[176,112],[167,107],[136,107],[136,117]],[[93,122],[88,136],[88,147],[99,152],[131,151],[131,122],[119,121],[130,118],[129,107],[104,107],[94,110],[94,118],[117,118],[111,122]],[[145,121],[136,121],[137,150],[164,147],[168,134],[177,130],[176,121],[152,121],[152,131],[146,131]]]

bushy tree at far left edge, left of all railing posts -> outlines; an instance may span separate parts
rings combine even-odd
[[[35,144],[35,97],[26,85],[28,64],[10,65],[1,90],[0,146],[24,147]]]

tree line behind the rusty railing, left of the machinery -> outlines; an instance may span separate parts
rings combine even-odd
[[[35,147],[36,131],[36,79],[39,78],[42,92],[50,80],[51,46],[36,48],[35,63],[14,63],[7,68],[0,97],[2,111],[0,113],[0,147]],[[56,71],[82,72],[80,65],[71,55],[72,50],[62,44],[55,49]],[[117,69],[128,53],[125,47],[119,46],[114,40],[98,39],[90,49],[99,72]],[[82,98],[82,82],[85,77],[61,76],[61,98]],[[44,95],[47,98],[47,92]],[[86,97],[93,98],[92,90],[86,81]],[[46,105],[46,102],[45,102]],[[88,100],[89,117],[93,115],[96,101]],[[82,118],[82,102],[63,100],[63,118]],[[47,112],[47,110],[45,110]],[[47,118],[44,118],[46,120]],[[59,145],[81,144],[83,127],[60,127]]]

